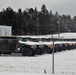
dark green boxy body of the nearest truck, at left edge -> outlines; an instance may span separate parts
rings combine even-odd
[[[16,52],[17,38],[14,36],[1,36],[0,37],[0,54],[11,54]]]

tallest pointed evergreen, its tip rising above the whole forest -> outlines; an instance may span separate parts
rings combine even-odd
[[[42,5],[42,7],[41,7],[41,13],[40,13],[40,15],[39,16],[41,16],[41,17],[39,17],[39,19],[41,20],[40,22],[40,24],[41,24],[41,32],[42,32],[42,34],[44,35],[44,34],[47,34],[47,18],[46,18],[46,13],[47,13],[47,9],[46,9],[46,6],[43,4]]]

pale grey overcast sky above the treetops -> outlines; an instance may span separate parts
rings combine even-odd
[[[47,9],[53,13],[58,11],[59,14],[76,15],[76,0],[0,0],[0,11],[3,8],[11,7],[15,11],[19,8],[35,8],[41,10],[42,4],[45,4]]]

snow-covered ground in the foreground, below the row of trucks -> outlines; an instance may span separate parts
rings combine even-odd
[[[52,54],[0,56],[0,75],[52,75]],[[55,75],[76,75],[76,50],[55,53]]]

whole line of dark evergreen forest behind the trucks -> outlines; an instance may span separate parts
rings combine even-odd
[[[76,32],[76,16],[59,15],[48,11],[43,4],[41,10],[29,8],[14,11],[7,7],[0,12],[0,25],[12,26],[13,35],[44,35]]]

